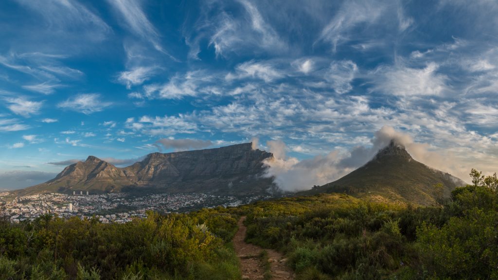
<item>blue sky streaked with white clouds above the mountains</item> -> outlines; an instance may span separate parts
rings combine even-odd
[[[88,155],[126,166],[256,139],[280,151],[278,174],[340,170],[319,182],[385,135],[462,179],[496,172],[496,14],[495,0],[0,1],[0,189]]]

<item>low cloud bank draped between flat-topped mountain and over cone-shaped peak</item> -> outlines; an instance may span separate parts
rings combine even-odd
[[[429,144],[415,142],[410,135],[389,126],[384,126],[375,132],[371,146],[357,146],[347,153],[334,150],[325,155],[303,160],[287,156],[287,146],[283,141],[267,141],[266,145],[274,158],[264,162],[268,166],[266,176],[274,177],[276,184],[284,191],[308,190],[314,185],[335,181],[364,165],[391,140],[404,145],[415,160],[466,179],[470,169],[462,168],[456,159],[432,151]]]

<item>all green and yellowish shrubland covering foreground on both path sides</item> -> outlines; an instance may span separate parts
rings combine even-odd
[[[0,279],[241,279],[241,215],[247,241],[284,253],[301,280],[498,279],[498,178],[471,176],[433,207],[320,194],[127,224],[3,221]]]

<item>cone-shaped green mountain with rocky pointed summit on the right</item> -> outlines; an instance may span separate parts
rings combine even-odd
[[[449,173],[414,160],[403,145],[391,140],[362,167],[334,182],[298,194],[345,192],[374,201],[430,205],[435,202],[437,183],[443,184],[444,197],[449,197],[455,187],[466,184]]]

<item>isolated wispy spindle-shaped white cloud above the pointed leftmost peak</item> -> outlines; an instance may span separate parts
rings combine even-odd
[[[93,93],[76,95],[59,103],[57,107],[90,115],[95,112],[101,112],[111,105],[111,102],[102,101],[99,94]]]

